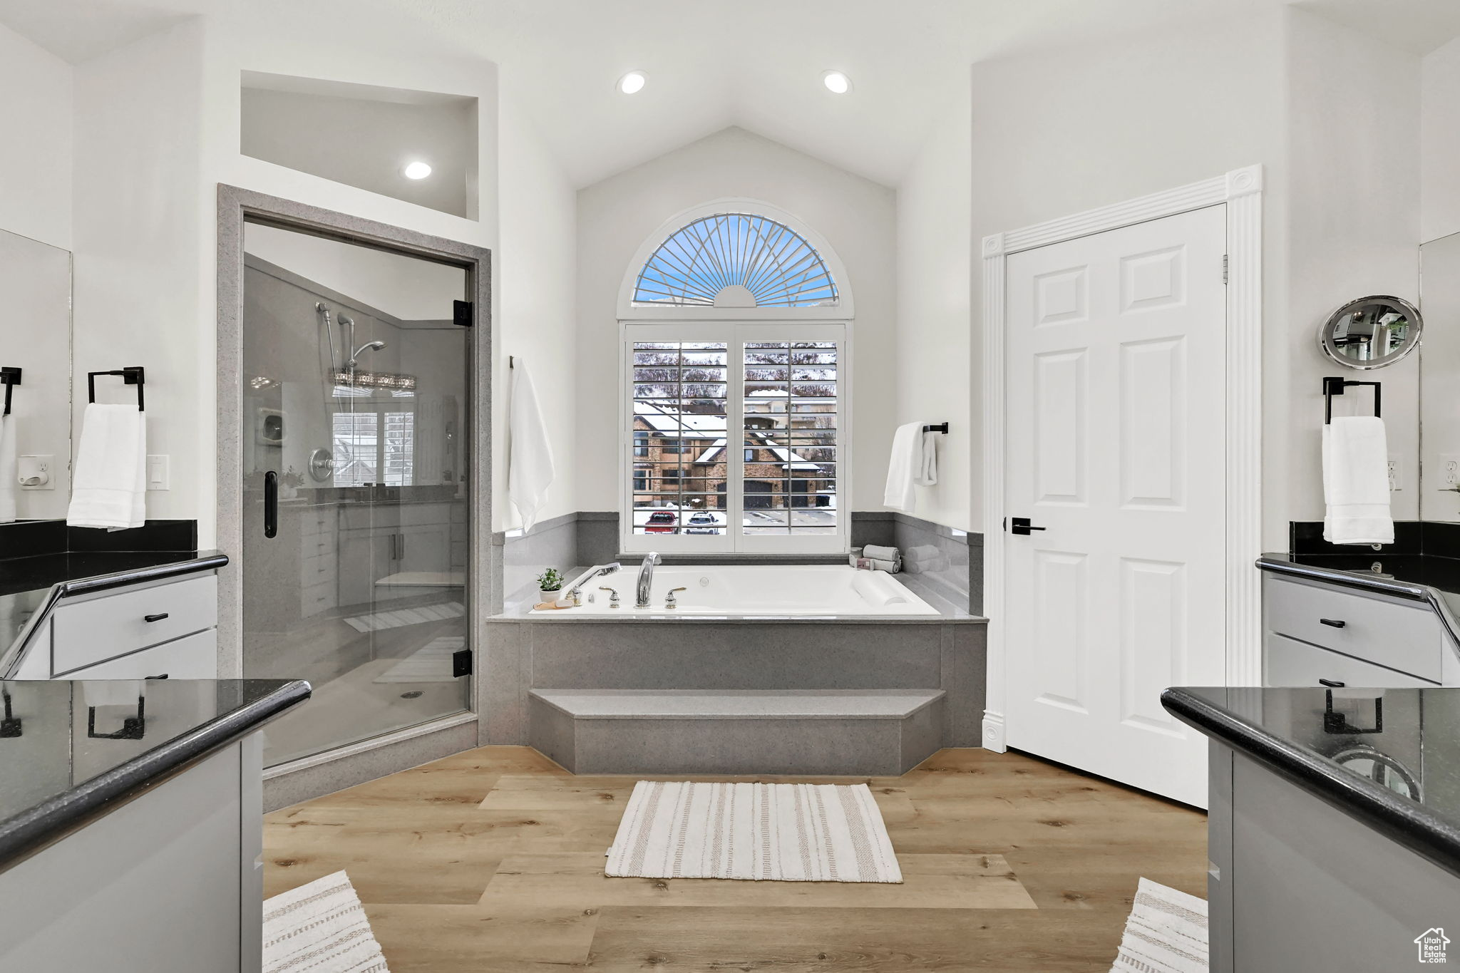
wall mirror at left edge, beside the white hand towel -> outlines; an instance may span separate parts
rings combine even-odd
[[[0,522],[58,519],[70,500],[70,252],[0,230]]]

